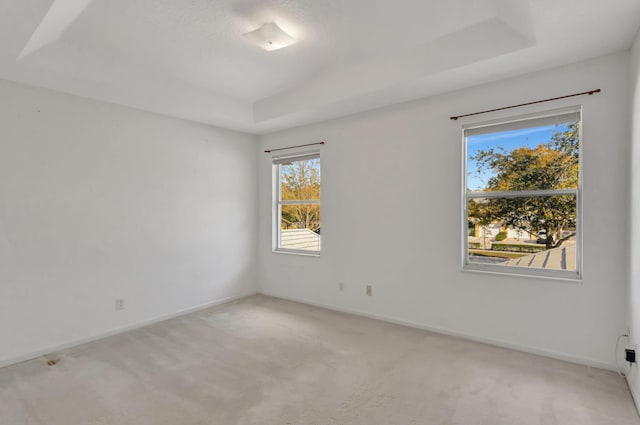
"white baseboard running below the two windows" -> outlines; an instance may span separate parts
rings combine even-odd
[[[464,333],[464,332],[458,332],[458,331],[454,331],[454,330],[451,330],[451,329],[446,329],[446,328],[441,328],[441,327],[436,327],[436,326],[429,326],[429,325],[425,325],[425,324],[422,324],[422,323],[417,323],[417,322],[412,322],[412,321],[409,321],[409,320],[399,319],[397,317],[391,317],[391,316],[385,316],[385,315],[380,315],[380,314],[375,314],[375,313],[369,313],[367,311],[357,310],[357,309],[352,309],[352,308],[347,308],[347,307],[338,307],[338,306],[334,306],[334,305],[318,303],[318,302],[315,302],[315,301],[312,301],[312,300],[303,299],[303,298],[296,298],[296,297],[290,297],[288,295],[282,295],[282,294],[278,294],[278,293],[271,292],[271,291],[259,290],[258,293],[262,294],[262,295],[269,296],[269,297],[273,297],[273,298],[280,298],[280,299],[287,300],[287,301],[293,301],[293,302],[297,302],[297,303],[308,304],[308,305],[311,305],[311,306],[314,306],[314,307],[325,308],[327,310],[338,311],[338,312],[341,312],[341,313],[354,314],[356,316],[368,317],[370,319],[381,320],[383,322],[393,323],[393,324],[396,324],[396,325],[408,326],[408,327],[411,327],[411,328],[421,329],[421,330],[434,332],[434,333],[438,333],[438,334],[442,334],[442,335],[454,336],[454,337],[463,338],[463,339],[466,339],[466,340],[469,340],[469,341],[474,341],[474,342],[479,342],[479,343],[482,343],[482,344],[493,345],[493,346],[496,346],[496,347],[508,348],[508,349],[516,350],[516,351],[522,351],[522,352],[525,352],[525,353],[535,354],[535,355],[543,356],[543,357],[549,357],[549,358],[552,358],[552,359],[562,360],[562,361],[569,362],[569,363],[575,363],[575,364],[579,364],[579,365],[584,365],[584,366],[598,368],[598,369],[605,369],[605,370],[610,370],[610,371],[615,371],[616,370],[614,365],[610,365],[608,363],[604,363],[604,362],[600,362],[600,361],[592,360],[592,359],[587,359],[587,358],[582,358],[582,357],[576,357],[576,356],[572,356],[572,355],[565,354],[565,353],[559,353],[559,352],[556,352],[556,351],[542,350],[542,349],[538,349],[538,348],[535,348],[535,347],[530,347],[530,346],[527,346],[527,345],[513,344],[513,343],[510,343],[510,342],[501,341],[501,340],[497,340],[497,339],[479,337],[479,336],[476,336],[476,335],[471,335],[471,334],[467,334],[467,333]]]

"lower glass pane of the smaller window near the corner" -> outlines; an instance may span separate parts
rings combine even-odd
[[[280,248],[320,251],[320,205],[282,205]]]

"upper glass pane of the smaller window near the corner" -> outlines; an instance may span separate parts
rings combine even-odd
[[[320,199],[320,158],[291,161],[279,167],[283,201]]]

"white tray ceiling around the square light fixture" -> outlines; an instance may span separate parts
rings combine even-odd
[[[299,42],[242,36],[271,21]],[[627,49],[639,26],[640,0],[0,0],[0,78],[267,133]]]

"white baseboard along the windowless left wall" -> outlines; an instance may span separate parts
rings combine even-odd
[[[149,325],[152,325],[154,323],[162,322],[164,320],[173,319],[174,317],[184,316],[185,314],[190,314],[190,313],[194,313],[196,311],[205,310],[207,308],[210,308],[210,307],[213,307],[213,306],[216,306],[216,305],[226,304],[226,303],[229,303],[229,302],[232,302],[232,301],[239,300],[241,298],[250,297],[252,295],[255,295],[256,293],[257,293],[256,291],[251,291],[251,292],[247,292],[247,293],[244,293],[244,294],[241,294],[241,295],[234,295],[232,297],[226,297],[226,298],[221,298],[221,299],[214,300],[214,301],[209,301],[207,303],[199,304],[197,306],[185,308],[185,309],[182,309],[182,310],[178,310],[178,311],[175,311],[173,313],[156,316],[156,317],[154,317],[152,319],[142,320],[140,322],[136,322],[136,323],[133,323],[131,325],[110,329],[110,330],[105,331],[105,332],[99,332],[99,333],[97,333],[95,335],[91,335],[91,336],[88,336],[88,337],[85,337],[85,338],[79,338],[79,339],[75,339],[73,341],[67,341],[67,342],[65,342],[63,344],[50,346],[50,347],[47,347],[47,348],[43,348],[42,350],[33,351],[31,353],[27,353],[27,354],[24,354],[24,355],[21,355],[21,356],[0,360],[0,368],[6,367],[6,366],[10,366],[10,365],[13,365],[13,364],[16,364],[16,363],[22,363],[22,362],[25,362],[27,360],[32,360],[32,359],[35,359],[35,358],[38,358],[38,357],[46,356],[47,354],[55,353],[57,351],[66,350],[66,349],[69,349],[69,348],[72,348],[72,347],[76,347],[78,345],[86,344],[86,343],[92,342],[92,341],[97,341],[99,339],[107,338],[109,336],[121,334],[121,333],[124,333],[124,332],[127,332],[127,331],[131,331],[131,330],[134,330],[134,329],[143,328],[145,326],[149,326]]]

